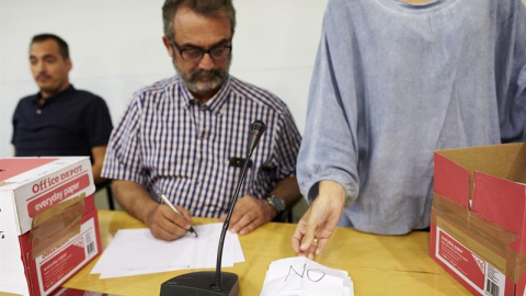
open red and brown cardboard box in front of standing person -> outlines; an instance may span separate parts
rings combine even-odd
[[[525,296],[526,144],[435,152],[430,254],[476,295]]]

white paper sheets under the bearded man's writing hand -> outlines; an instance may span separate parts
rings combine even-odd
[[[100,278],[121,277],[157,272],[213,269],[217,262],[217,247],[222,224],[194,226],[199,234],[174,240],[153,238],[148,228],[121,229],[91,271]],[[244,262],[238,236],[227,232],[222,250],[222,267]]]

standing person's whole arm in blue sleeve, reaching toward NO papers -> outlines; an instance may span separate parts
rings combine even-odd
[[[310,208],[291,238],[298,254],[313,258],[331,237],[344,207],[357,197],[358,159],[370,143],[359,54],[344,1],[331,1],[309,90],[297,175]],[[348,23],[348,25],[347,25]],[[312,246],[313,238],[318,239]]]

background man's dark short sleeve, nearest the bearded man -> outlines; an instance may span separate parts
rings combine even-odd
[[[90,147],[105,146],[110,140],[113,124],[106,102],[95,96],[84,113],[84,126]]]

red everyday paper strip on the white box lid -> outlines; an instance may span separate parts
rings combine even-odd
[[[89,185],[90,177],[88,174],[83,174],[59,187],[52,190],[38,198],[31,201],[27,205],[30,217],[35,217],[36,214],[67,200],[68,197],[73,196]]]

